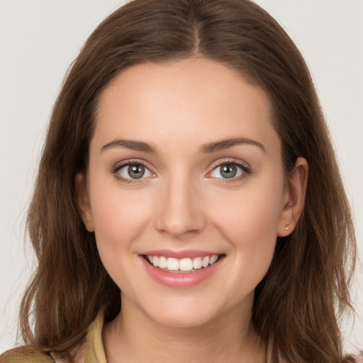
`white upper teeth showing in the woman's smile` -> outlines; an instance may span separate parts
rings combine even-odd
[[[218,255],[177,259],[173,257],[164,256],[151,256],[147,255],[147,259],[160,269],[169,269],[172,271],[191,271],[192,269],[201,269],[202,267],[208,267],[217,261]]]

